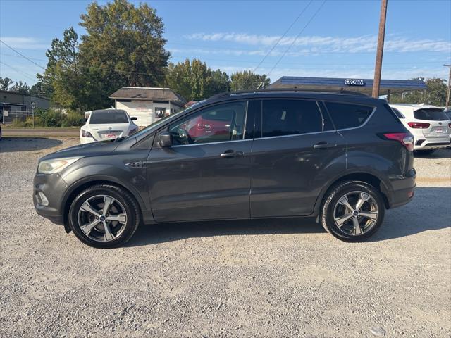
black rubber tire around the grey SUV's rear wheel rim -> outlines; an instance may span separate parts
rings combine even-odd
[[[363,192],[364,194],[368,194],[372,198],[370,200],[371,204],[373,204],[374,207],[377,206],[376,211],[378,215],[376,221],[372,222],[371,227],[368,226],[367,228],[368,230],[364,231],[362,234],[349,234],[345,232],[344,229],[340,230],[340,227],[338,227],[338,225],[336,224],[334,217],[335,210],[336,208],[338,208],[339,203],[338,200],[340,200],[342,196],[345,196],[346,194],[353,194],[354,192]],[[368,208],[368,206],[365,206],[365,208]],[[362,211],[362,213],[363,212],[364,211]],[[350,215],[351,213],[352,212],[347,213],[347,215]],[[383,201],[383,196],[381,192],[378,191],[378,189],[376,189],[371,184],[368,184],[366,182],[345,181],[340,182],[335,186],[331,187],[324,196],[320,219],[321,225],[323,225],[324,229],[326,229],[327,232],[330,232],[330,234],[333,234],[334,237],[341,239],[342,241],[345,242],[361,242],[364,239],[371,237],[371,235],[373,235],[379,229],[379,227],[381,227],[384,216],[385,216],[385,204]],[[353,222],[354,218],[355,217],[352,217],[352,220],[346,221],[347,223],[343,224],[346,224],[347,227],[352,228],[350,222]],[[365,221],[365,218],[362,218],[362,216],[359,215],[357,216],[357,220],[359,222],[362,222]],[[359,230],[362,231],[360,227],[357,228],[359,228]]]

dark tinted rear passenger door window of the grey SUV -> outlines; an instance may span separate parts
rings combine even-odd
[[[323,119],[316,101],[264,100],[262,137],[307,134],[323,131]]]

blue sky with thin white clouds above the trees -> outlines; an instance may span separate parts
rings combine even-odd
[[[83,34],[78,23],[89,2],[0,0],[0,39],[44,66],[51,39],[71,25]],[[272,81],[282,75],[373,77],[379,0],[328,0],[321,9],[323,0],[143,2],[163,19],[172,62],[200,58],[229,75],[254,70],[304,11],[257,73],[269,73]],[[450,14],[450,0],[388,0],[382,77],[447,79]],[[1,77],[28,84],[42,70],[4,44],[0,61]]]

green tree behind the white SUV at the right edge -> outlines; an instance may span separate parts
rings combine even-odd
[[[412,80],[424,80],[417,77]],[[440,78],[432,78],[425,81],[426,89],[415,92],[396,93],[390,97],[393,104],[432,104],[434,106],[445,106],[447,84]]]

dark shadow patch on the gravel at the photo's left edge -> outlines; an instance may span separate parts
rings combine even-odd
[[[0,153],[49,149],[62,143],[59,139],[48,139],[45,137],[2,137]]]

